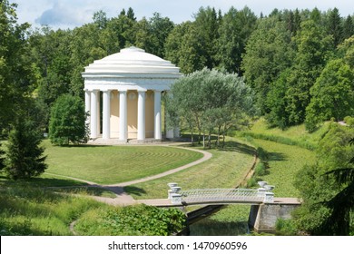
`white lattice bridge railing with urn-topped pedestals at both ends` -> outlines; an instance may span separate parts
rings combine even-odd
[[[181,190],[177,183],[169,183],[169,199],[172,204],[227,203],[227,202],[272,202],[272,188],[259,189],[195,189]],[[266,188],[264,188],[266,187]],[[271,189],[271,190],[270,190]]]

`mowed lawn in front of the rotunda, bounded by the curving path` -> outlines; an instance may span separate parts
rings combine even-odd
[[[99,184],[133,181],[202,158],[202,153],[166,146],[53,146],[44,142],[47,173]]]

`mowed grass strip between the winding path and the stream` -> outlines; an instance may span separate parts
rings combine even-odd
[[[253,147],[233,138],[228,138],[225,149],[208,151],[212,153],[208,161],[161,179],[125,187],[124,190],[134,199],[164,199],[169,182],[177,182],[182,190],[234,188],[251,169],[255,154]]]

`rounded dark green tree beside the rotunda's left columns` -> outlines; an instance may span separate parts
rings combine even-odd
[[[87,142],[86,116],[84,103],[79,97],[70,94],[59,97],[51,110],[49,122],[51,142],[57,145]]]

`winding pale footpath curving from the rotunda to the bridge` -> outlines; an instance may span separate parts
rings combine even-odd
[[[162,145],[162,146],[169,147],[171,145]],[[197,150],[197,149],[192,149],[192,148],[187,148],[187,147],[180,147],[180,146],[173,146],[173,147],[174,148],[179,148],[179,149],[190,150],[190,151],[198,151],[198,152],[201,152],[203,154],[203,157],[201,159],[197,160],[197,161],[192,161],[192,162],[190,162],[188,164],[185,164],[185,165],[183,165],[181,167],[172,169],[170,171],[164,171],[164,172],[162,172],[160,174],[156,174],[156,175],[152,175],[152,176],[149,176],[149,177],[145,177],[143,179],[138,179],[138,180],[134,180],[134,181],[125,181],[125,182],[119,182],[119,183],[107,184],[107,185],[101,185],[101,184],[98,184],[98,183],[93,182],[93,181],[85,181],[85,180],[77,179],[77,178],[74,178],[74,177],[68,177],[68,176],[63,176],[63,175],[60,175],[60,176],[61,177],[65,177],[67,179],[72,179],[72,180],[75,180],[75,181],[85,182],[85,183],[89,184],[90,187],[98,187],[98,188],[103,188],[105,190],[111,190],[111,191],[113,191],[113,193],[116,194],[116,197],[114,199],[94,196],[93,197],[94,200],[99,200],[99,201],[102,201],[102,202],[105,202],[105,203],[109,203],[109,204],[112,204],[112,205],[121,205],[121,206],[133,205],[133,204],[138,203],[138,201],[134,200],[132,196],[130,196],[126,192],[124,192],[124,187],[125,186],[130,186],[130,185],[141,183],[141,182],[144,182],[144,181],[151,181],[151,180],[159,179],[159,178],[162,178],[164,176],[176,173],[178,171],[183,171],[185,169],[191,168],[192,166],[198,165],[198,164],[200,164],[200,163],[202,163],[204,161],[208,161],[209,159],[211,159],[211,156],[212,156],[211,152],[209,152],[209,151],[201,151],[201,150]],[[45,173],[45,174],[58,176],[58,175],[53,174],[53,173]]]

